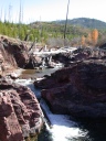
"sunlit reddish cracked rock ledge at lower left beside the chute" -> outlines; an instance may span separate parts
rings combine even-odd
[[[0,141],[24,141],[43,127],[43,112],[30,88],[0,78]]]

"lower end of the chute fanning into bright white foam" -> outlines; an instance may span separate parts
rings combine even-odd
[[[77,123],[71,120],[66,115],[53,115],[49,109],[44,100],[41,100],[41,106],[52,124],[49,131],[52,133],[53,141],[68,141],[71,139],[77,139],[85,137],[87,132],[82,131]]]

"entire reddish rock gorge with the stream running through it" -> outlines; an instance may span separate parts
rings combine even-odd
[[[0,36],[0,140],[105,141],[105,50],[56,54],[47,68],[28,46]]]

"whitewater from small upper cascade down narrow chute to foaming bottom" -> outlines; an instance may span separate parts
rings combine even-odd
[[[31,90],[35,94],[36,98],[41,99],[40,105],[46,113],[49,121],[51,122],[50,126],[46,120],[45,126],[46,130],[52,135],[52,141],[71,141],[72,139],[78,139],[87,134],[87,131],[82,131],[78,124],[75,121],[71,120],[70,116],[52,113],[44,99],[41,98],[40,90],[35,89],[33,80],[17,79],[15,83],[30,87]]]

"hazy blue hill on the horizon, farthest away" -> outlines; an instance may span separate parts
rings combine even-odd
[[[53,22],[56,24],[64,24],[65,20],[53,21]],[[88,29],[106,29],[106,22],[96,19],[88,19],[88,18],[77,18],[73,20],[67,20],[67,24],[80,25]]]

